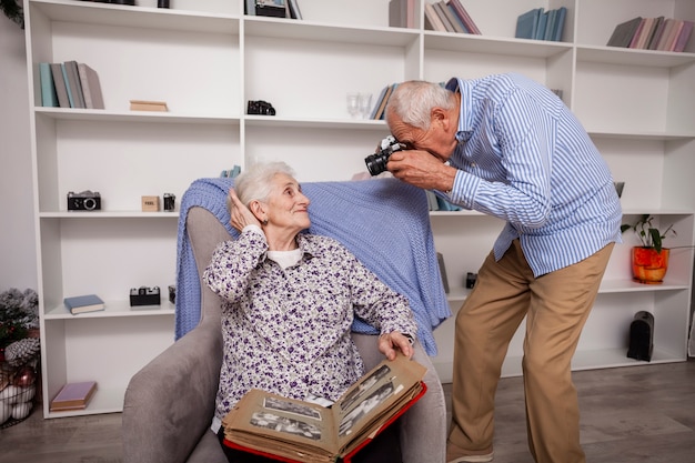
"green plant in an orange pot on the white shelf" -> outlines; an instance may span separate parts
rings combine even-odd
[[[633,230],[642,245],[632,249],[633,280],[644,284],[659,284],[668,270],[671,249],[663,246],[663,240],[676,235],[673,224],[661,231],[653,224],[654,218],[642,214],[634,224],[624,223],[621,232]]]

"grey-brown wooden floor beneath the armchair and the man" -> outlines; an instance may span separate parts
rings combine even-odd
[[[587,462],[695,462],[695,360],[582,371],[574,380]],[[501,380],[495,423],[494,463],[533,463],[521,378]],[[0,431],[0,463],[118,463],[120,426],[119,413],[43,420],[36,407]]]

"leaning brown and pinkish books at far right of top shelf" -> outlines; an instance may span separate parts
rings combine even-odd
[[[693,32],[693,21],[636,17],[615,27],[608,47],[683,51]]]

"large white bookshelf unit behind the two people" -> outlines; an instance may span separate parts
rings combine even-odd
[[[482,36],[390,28],[387,0],[300,0],[303,20],[243,14],[242,0],[177,0],[170,9],[71,0],[26,0],[33,190],[46,416],[122,409],[130,376],[173,342],[178,213],[141,212],[142,195],[181,195],[197,178],[234,164],[282,158],[300,181],[348,180],[386,133],[383,121],[351,119],[345,93],[374,98],[407,79],[477,78],[516,71],[562,89],[563,99],[625,181],[627,215],[676,223],[669,245],[695,242],[695,40],[685,52],[608,48],[615,26],[635,16],[695,20],[688,0],[462,1]],[[329,4],[330,3],[330,4]],[[335,13],[336,4],[341,14]],[[532,8],[567,8],[562,41],[515,39]],[[104,110],[42,108],[39,62],[85,62],[98,73]],[[129,111],[130,100],[165,101],[165,113]],[[270,101],[275,117],[244,114]],[[95,190],[102,210],[66,209],[68,191]],[[627,220],[628,218],[626,218]],[[472,212],[434,212],[451,305],[465,299],[502,228]],[[575,355],[575,369],[643,364],[627,359],[634,313],[655,315],[656,362],[686,359],[693,252],[672,255],[659,286],[629,281],[632,236],[616,246]],[[162,289],[162,305],[131,310],[130,288]],[[67,295],[97,293],[108,310],[73,316]],[[522,331],[520,331],[522,333]],[[435,331],[433,359],[451,380],[453,318]],[[523,334],[505,375],[521,373]],[[95,380],[80,412],[51,413],[67,382]]]

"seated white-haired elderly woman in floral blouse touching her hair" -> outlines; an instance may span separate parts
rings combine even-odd
[[[220,421],[250,389],[320,403],[343,394],[365,373],[350,335],[355,315],[380,330],[386,358],[396,350],[413,354],[416,325],[407,300],[338,241],[301,233],[311,225],[310,201],[288,164],[251,165],[228,202],[241,234],[216,248],[203,274],[223,300],[224,362],[212,425],[220,440]],[[377,451],[379,441],[361,454]],[[397,436],[389,445],[397,449]],[[223,449],[230,462],[262,461]]]

